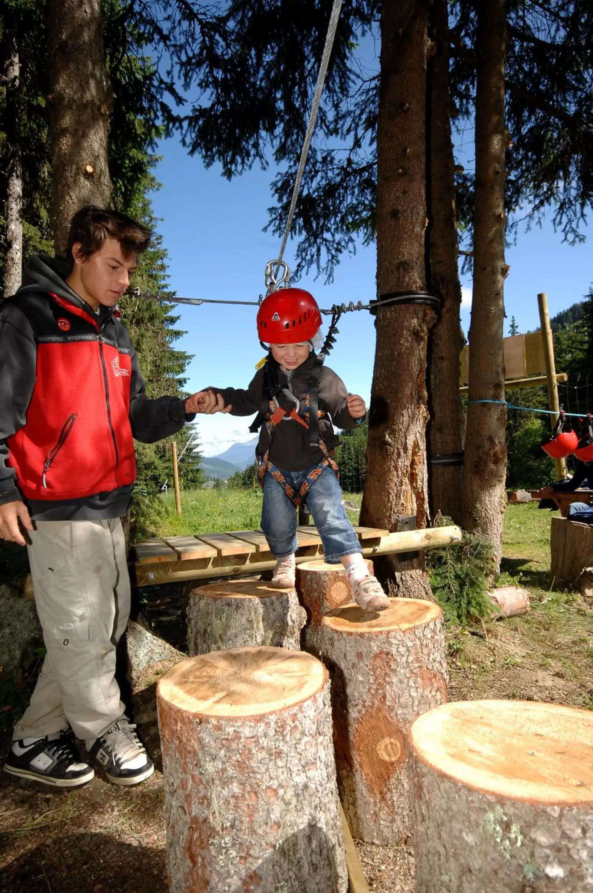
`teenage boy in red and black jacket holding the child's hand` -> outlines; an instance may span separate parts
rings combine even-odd
[[[82,208],[67,261],[34,255],[0,305],[0,538],[27,539],[46,644],[4,770],[57,787],[94,775],[72,732],[116,784],[153,772],[114,678],[129,615],[120,518],[136,478],[132,438],[170,437],[194,409],[191,398],[146,396],[115,313],[150,237],[123,214]]]

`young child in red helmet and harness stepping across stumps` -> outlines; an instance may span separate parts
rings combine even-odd
[[[260,428],[256,456],[263,488],[262,530],[276,558],[271,585],[295,585],[296,505],[306,499],[325,561],[344,565],[358,605],[382,611],[389,599],[363,561],[341,504],[332,456],[338,445],[333,424],[355,428],[366,408],[363,398],[348,394],[344,382],[315,355],[313,338],[321,324],[313,296],[302,288],[281,288],[266,297],[257,313],[260,341],[270,347],[263,368],[246,390],[206,388],[194,398],[192,409],[233,415],[259,411],[252,430]]]

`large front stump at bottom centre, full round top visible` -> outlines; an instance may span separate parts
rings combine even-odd
[[[157,702],[171,893],[347,893],[322,663],[270,647],[192,657]]]

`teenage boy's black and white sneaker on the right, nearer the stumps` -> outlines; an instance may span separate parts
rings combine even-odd
[[[96,739],[88,751],[103,766],[113,784],[138,784],[155,771],[135,729],[136,725],[122,716]]]

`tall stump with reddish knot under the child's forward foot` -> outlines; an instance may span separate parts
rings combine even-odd
[[[330,669],[338,790],[355,838],[380,845],[412,831],[405,738],[447,700],[443,612],[394,598],[380,614],[347,605],[307,628]]]

